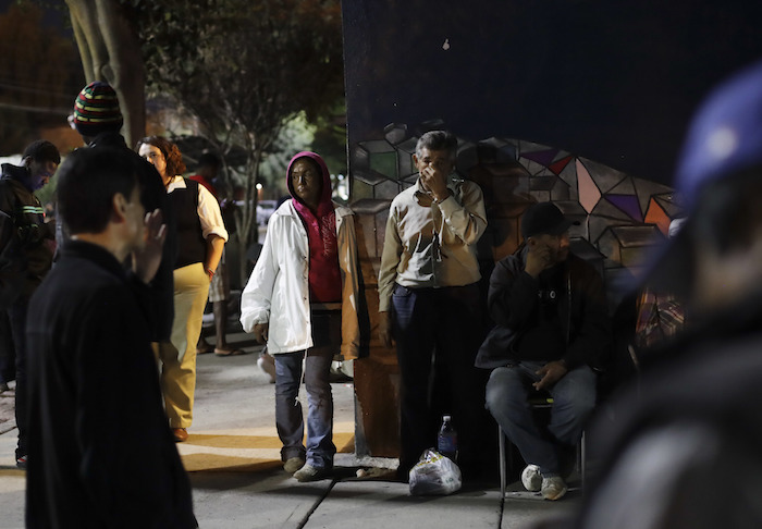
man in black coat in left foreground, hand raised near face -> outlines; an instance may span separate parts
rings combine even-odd
[[[59,171],[71,238],[27,324],[28,528],[196,527],[147,319],[165,226],[138,171],[112,149],[76,150]]]

